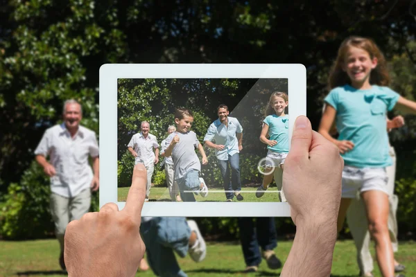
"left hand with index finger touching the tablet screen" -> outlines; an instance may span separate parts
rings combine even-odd
[[[146,168],[137,164],[123,210],[108,203],[69,222],[64,248],[69,276],[135,276],[146,249],[139,233],[146,179]]]

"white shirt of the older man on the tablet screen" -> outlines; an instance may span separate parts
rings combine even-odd
[[[127,147],[133,148],[137,153],[136,163],[144,163],[144,166],[149,166],[155,161],[155,152],[153,148],[158,148],[156,136],[148,134],[145,139],[143,134],[138,133],[132,136]]]

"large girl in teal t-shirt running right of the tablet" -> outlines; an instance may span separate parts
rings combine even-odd
[[[385,116],[393,107],[416,113],[416,102],[386,87],[390,83],[383,53],[371,39],[349,37],[341,44],[329,74],[329,95],[319,131],[335,143],[344,159],[338,232],[345,213],[359,190],[365,203],[369,231],[376,244],[381,274],[394,276],[392,244],[388,233],[388,154]],[[329,130],[336,121],[338,139]]]

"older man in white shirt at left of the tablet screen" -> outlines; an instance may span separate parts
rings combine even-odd
[[[150,124],[147,121],[141,123],[141,132],[132,136],[127,147],[133,157],[135,164],[143,163],[147,170],[146,199],[149,201],[150,188],[152,186],[152,175],[155,170],[155,164],[159,162],[159,144],[156,136],[149,134]],[[153,152],[155,150],[155,152]]]

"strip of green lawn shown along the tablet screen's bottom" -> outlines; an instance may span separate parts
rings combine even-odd
[[[268,188],[267,192],[261,198],[257,198],[255,195],[257,187],[241,188],[241,195],[244,197],[244,202],[279,202],[279,195],[277,187],[272,186]],[[129,188],[119,188],[119,201],[125,201],[127,199]],[[223,188],[209,188],[208,196],[203,198],[200,195],[195,196],[198,202],[224,202],[225,193]],[[162,186],[153,186],[150,188],[150,201],[171,201],[169,196],[169,190]],[[236,201],[234,197],[234,201]]]

